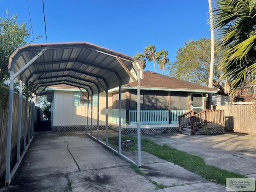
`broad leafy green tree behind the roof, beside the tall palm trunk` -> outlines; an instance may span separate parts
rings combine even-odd
[[[224,81],[220,79],[221,71],[217,70],[221,58],[220,52],[214,54],[213,86],[220,87]],[[207,86],[211,59],[211,39],[188,40],[177,51],[176,61],[168,66],[169,75],[188,82]]]

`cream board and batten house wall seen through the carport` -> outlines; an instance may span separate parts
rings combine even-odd
[[[87,106],[74,106],[74,92],[55,91],[53,98],[53,118],[52,126],[86,125]],[[112,96],[108,97],[108,122],[111,120]],[[106,94],[100,93],[99,124],[106,124]],[[97,124],[97,106],[92,108],[92,124]],[[89,106],[89,125],[91,122],[91,106]]]

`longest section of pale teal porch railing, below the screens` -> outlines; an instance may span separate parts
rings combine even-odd
[[[169,124],[168,110],[140,110],[140,124]],[[137,110],[129,110],[130,125],[137,124]]]

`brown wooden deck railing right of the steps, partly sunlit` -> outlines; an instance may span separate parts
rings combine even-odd
[[[207,124],[225,124],[224,110],[203,110],[190,117],[191,134]]]

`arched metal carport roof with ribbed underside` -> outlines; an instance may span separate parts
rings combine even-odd
[[[131,56],[88,42],[28,44],[10,56],[11,76],[33,91],[39,87],[67,84],[92,94],[130,82],[138,83],[143,70]]]

